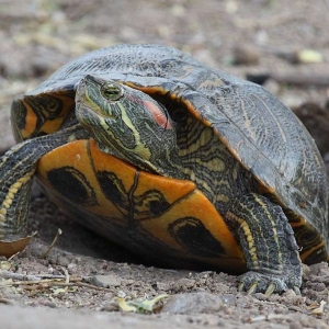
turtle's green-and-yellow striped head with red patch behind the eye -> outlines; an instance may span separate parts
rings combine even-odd
[[[77,86],[76,115],[100,149],[139,169],[172,177],[178,164],[174,123],[148,94],[93,76]]]

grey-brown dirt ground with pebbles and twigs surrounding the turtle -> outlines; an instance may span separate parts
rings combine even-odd
[[[297,112],[329,162],[328,13],[328,0],[0,0],[1,151],[14,143],[15,94],[91,49],[160,43],[264,82]],[[58,228],[63,235],[43,257]],[[67,218],[37,188],[29,230],[38,235],[27,249],[0,262],[1,328],[329,328],[326,263],[305,266],[302,296],[247,296],[237,293],[237,276],[136,259]],[[120,310],[116,299],[161,294],[169,296],[152,315]]]

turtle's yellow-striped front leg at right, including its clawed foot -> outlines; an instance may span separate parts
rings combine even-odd
[[[250,193],[232,202],[226,219],[250,270],[241,275],[239,290],[271,295],[293,288],[300,294],[298,246],[282,208],[262,195]]]

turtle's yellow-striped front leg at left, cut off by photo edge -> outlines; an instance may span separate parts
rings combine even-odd
[[[80,126],[27,139],[0,158],[0,239],[21,238],[26,228],[30,191],[37,161],[47,152],[75,139],[89,138]]]

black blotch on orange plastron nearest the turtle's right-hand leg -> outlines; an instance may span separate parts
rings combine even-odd
[[[198,257],[223,257],[225,250],[204,224],[194,217],[177,219],[168,226],[169,234],[190,253]]]

